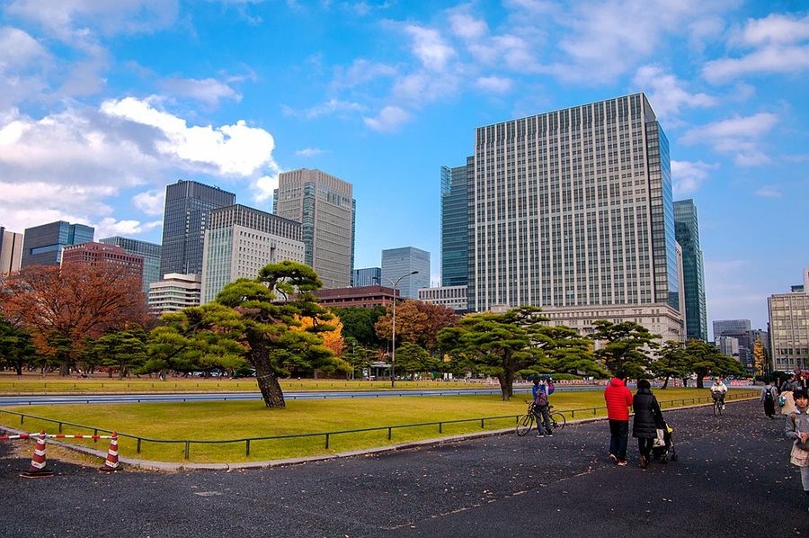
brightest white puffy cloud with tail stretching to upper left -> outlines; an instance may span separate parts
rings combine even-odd
[[[162,156],[209,168],[215,174],[249,176],[272,162],[272,135],[248,127],[244,120],[216,128],[189,127],[182,118],[134,97],[105,101],[101,109],[111,117],[156,128],[164,136],[156,141]]]

